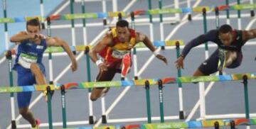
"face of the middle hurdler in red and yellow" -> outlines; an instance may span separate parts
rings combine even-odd
[[[124,43],[129,40],[129,29],[127,27],[117,26],[117,38],[120,42]]]

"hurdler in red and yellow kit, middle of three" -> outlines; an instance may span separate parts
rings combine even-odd
[[[95,62],[100,69],[96,79],[97,82],[111,81],[114,74],[121,71],[123,58],[127,59],[128,57],[129,59],[131,49],[139,42],[144,43],[151,52],[154,52],[154,55],[156,55],[159,60],[167,64],[166,58],[155,51],[155,47],[146,35],[135,32],[135,30],[129,28],[127,21],[121,20],[117,22],[116,28],[112,28],[102,40],[90,50],[91,60]],[[102,60],[98,59],[97,54],[102,57]],[[126,64],[131,63],[126,62]],[[90,99],[92,101],[97,100],[102,94],[105,94],[107,90],[107,88],[92,89]]]

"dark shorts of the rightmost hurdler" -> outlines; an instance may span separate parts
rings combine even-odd
[[[234,69],[239,67],[242,62],[242,52],[237,52],[238,57],[227,68]],[[210,75],[218,71],[218,49],[205,60],[198,69],[205,75]]]

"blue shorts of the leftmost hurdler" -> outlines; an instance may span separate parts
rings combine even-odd
[[[41,72],[46,76],[46,70],[43,64],[38,64],[38,67],[41,69]],[[18,73],[18,86],[28,86],[36,84],[36,78],[31,73],[30,69],[21,67],[19,64],[14,65],[14,70]],[[26,108],[29,106],[31,101],[32,92],[18,92],[17,101],[18,108]]]

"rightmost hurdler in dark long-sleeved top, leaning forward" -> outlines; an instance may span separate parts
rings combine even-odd
[[[242,62],[242,46],[247,40],[256,38],[256,29],[252,30],[233,30],[227,24],[220,26],[219,29],[210,30],[208,33],[199,35],[186,44],[180,57],[176,60],[176,67],[183,68],[183,60],[188,52],[198,45],[211,41],[218,45],[218,49],[204,61],[193,76],[207,76],[214,72],[222,72],[224,67],[233,69],[239,67]]]

